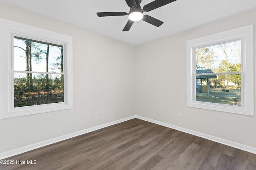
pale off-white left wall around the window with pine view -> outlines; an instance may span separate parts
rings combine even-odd
[[[0,119],[0,153],[135,114],[133,46],[2,3],[0,18],[72,36],[74,64],[74,109]]]

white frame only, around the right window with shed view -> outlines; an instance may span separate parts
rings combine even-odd
[[[243,115],[254,115],[254,25],[191,39],[187,41],[187,106]],[[242,39],[241,106],[196,101],[195,49]]]

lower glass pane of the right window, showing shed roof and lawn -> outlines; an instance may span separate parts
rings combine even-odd
[[[241,106],[241,74],[196,76],[196,101]]]

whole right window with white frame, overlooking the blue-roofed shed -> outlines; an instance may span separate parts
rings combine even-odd
[[[253,25],[187,41],[187,106],[253,115]]]

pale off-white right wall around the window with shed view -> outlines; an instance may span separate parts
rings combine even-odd
[[[240,14],[136,47],[137,115],[256,147],[255,111],[246,116],[186,107],[186,41],[254,24],[256,56],[255,16],[256,11]],[[254,70],[254,85],[255,77]]]

